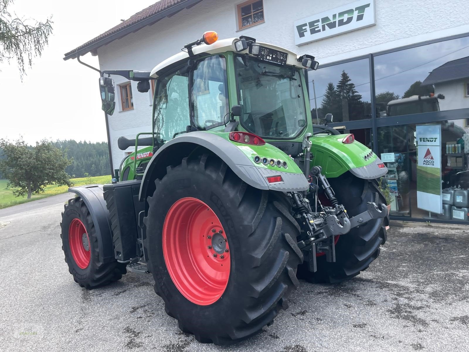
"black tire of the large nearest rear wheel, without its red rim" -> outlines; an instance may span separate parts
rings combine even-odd
[[[184,158],[180,165],[168,167],[155,185],[153,196],[147,198],[144,247],[166,313],[197,341],[217,345],[246,339],[270,325],[281,309],[287,309],[287,298],[299,283],[296,268],[303,261],[296,245],[299,226],[285,207],[283,193],[249,186],[213,154]],[[166,215],[175,202],[187,197],[212,209],[229,244],[226,288],[207,305],[193,303],[179,291],[163,254]]]

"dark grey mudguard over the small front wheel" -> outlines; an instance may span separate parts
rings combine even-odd
[[[90,184],[87,186],[71,187],[68,191],[77,194],[83,199],[83,202],[90,211],[96,236],[98,237],[99,260],[103,263],[115,260],[111,221],[109,219],[109,211],[106,208],[106,201],[103,197],[103,185]]]

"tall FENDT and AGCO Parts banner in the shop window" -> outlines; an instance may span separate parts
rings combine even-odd
[[[441,125],[416,126],[417,207],[442,214]]]

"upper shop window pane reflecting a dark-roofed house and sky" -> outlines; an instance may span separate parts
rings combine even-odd
[[[469,108],[468,67],[469,37],[375,56],[377,117]]]

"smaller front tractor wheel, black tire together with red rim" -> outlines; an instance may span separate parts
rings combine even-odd
[[[61,229],[68,271],[81,287],[92,289],[102,286],[119,280],[126,273],[126,264],[100,261],[98,237],[83,199],[68,200],[62,213]]]

